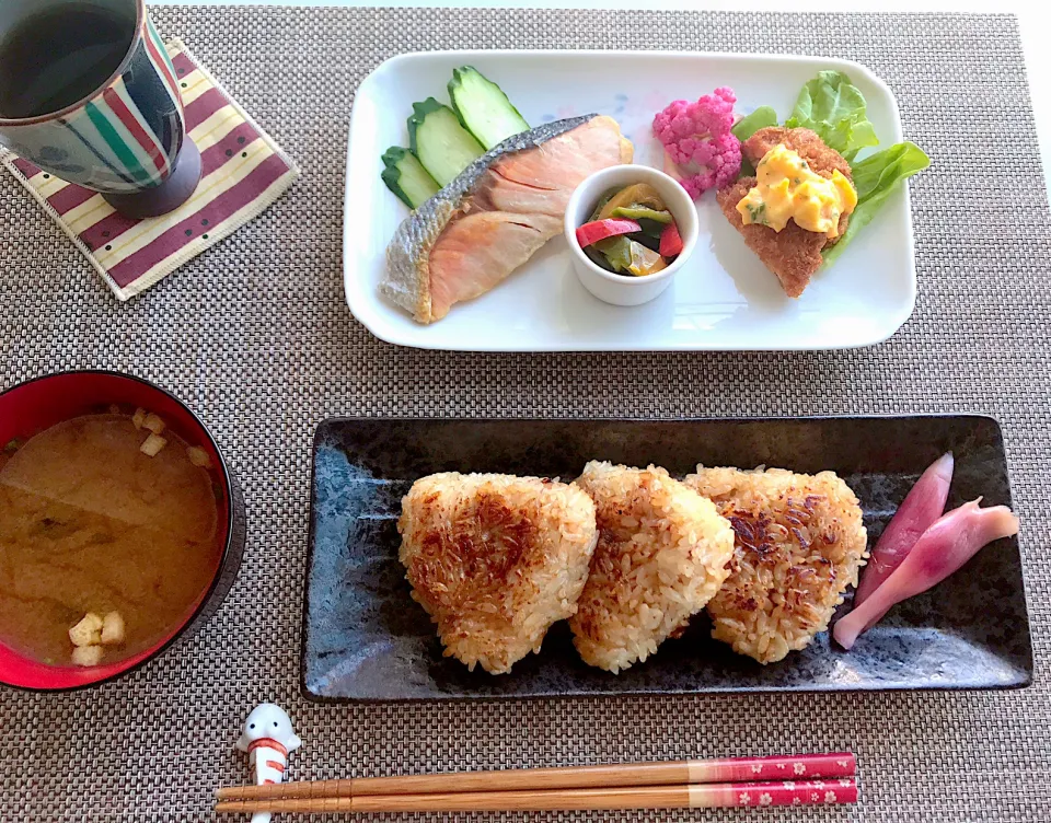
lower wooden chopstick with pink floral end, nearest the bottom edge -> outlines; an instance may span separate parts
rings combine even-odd
[[[289,800],[228,800],[219,813],[284,812],[503,812],[617,809],[715,809],[742,805],[810,805],[857,802],[852,777],[835,780],[719,783],[591,789],[530,789],[441,795],[367,795]]]

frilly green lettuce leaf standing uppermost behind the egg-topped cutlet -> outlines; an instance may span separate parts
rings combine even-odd
[[[865,96],[842,71],[819,71],[802,86],[787,128],[808,128],[851,162],[861,149],[878,146]]]

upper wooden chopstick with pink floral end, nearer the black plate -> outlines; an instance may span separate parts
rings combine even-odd
[[[773,757],[732,757],[608,766],[518,768],[400,777],[356,777],[273,786],[230,786],[219,800],[347,798],[371,795],[438,795],[533,789],[590,789],[631,786],[688,786],[748,780],[804,780],[851,777],[857,764],[851,752]]]

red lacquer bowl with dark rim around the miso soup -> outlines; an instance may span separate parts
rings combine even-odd
[[[82,415],[105,412],[109,406],[145,408],[155,413],[187,443],[205,450],[216,487],[218,508],[215,569],[210,584],[152,648],[113,663],[92,668],[47,665],[8,648],[0,641],[0,683],[43,692],[70,691],[119,677],[163,654],[180,639],[190,636],[211,617],[233,586],[244,553],[244,500],[215,439],[183,403],[152,383],[127,374],[73,371],[22,383],[0,394],[0,448]]]

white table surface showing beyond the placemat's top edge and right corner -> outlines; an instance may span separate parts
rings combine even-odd
[[[151,0],[153,5],[188,5],[194,0]],[[671,9],[682,11],[729,10],[729,11],[829,11],[829,4],[813,0],[212,0],[217,5],[316,5],[316,7],[370,7],[385,5],[394,8],[508,8],[508,9]],[[1037,120],[1040,139],[1040,155],[1043,160],[1044,183],[1051,189],[1051,48],[1048,48],[1047,33],[1051,31],[1051,3],[1043,0],[851,0],[841,7],[844,12],[904,11],[904,12],[968,12],[968,13],[1010,13],[1018,18],[1021,45],[1026,55],[1026,70],[1029,80],[1029,94]]]

